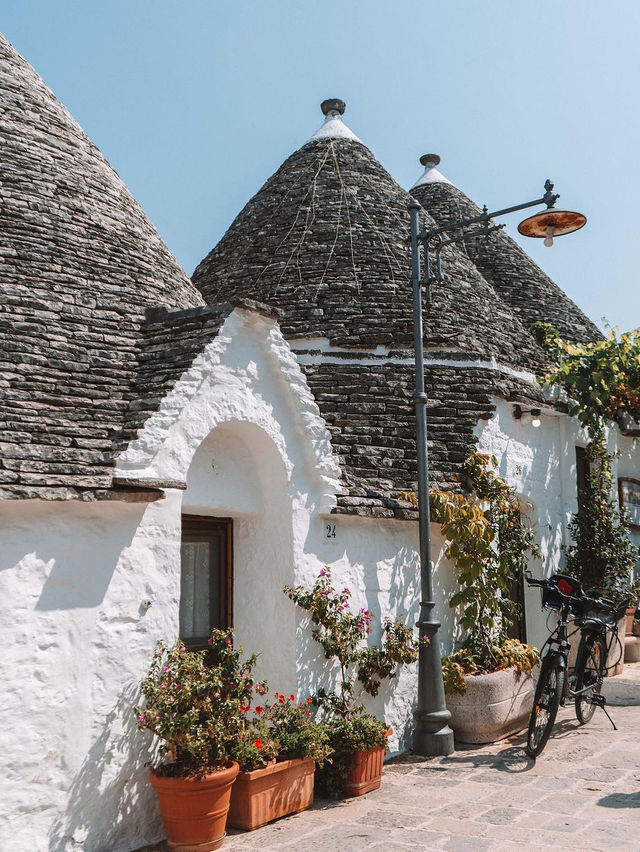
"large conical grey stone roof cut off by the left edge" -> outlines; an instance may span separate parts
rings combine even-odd
[[[98,149],[0,36],[0,493],[111,483],[145,308],[203,304]]]

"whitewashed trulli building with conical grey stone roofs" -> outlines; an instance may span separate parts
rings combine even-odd
[[[411,196],[339,102],[190,280],[122,181],[0,40],[0,848],[131,850],[161,836],[132,705],[155,641],[216,625],[272,689],[330,672],[282,594],[330,565],[356,606],[415,620]],[[475,209],[434,160],[423,221]],[[451,248],[426,306],[432,482],[473,446],[560,561],[575,422],[535,383],[538,319],[595,326],[516,246]],[[533,429],[514,404],[542,408]],[[621,472],[640,474],[618,433]],[[443,645],[452,571],[433,529]],[[526,630],[540,641],[536,599]],[[416,672],[371,709],[410,742]]]

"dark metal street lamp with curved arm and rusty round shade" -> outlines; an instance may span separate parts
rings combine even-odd
[[[427,155],[429,156],[429,155]],[[424,160],[425,158],[423,158]],[[438,158],[439,160],[439,158]],[[409,203],[411,216],[411,271],[413,283],[413,336],[416,364],[416,387],[413,396],[416,409],[416,440],[418,455],[418,518],[420,527],[420,582],[421,601],[418,629],[421,643],[418,659],[418,706],[414,714],[413,749],[421,755],[446,755],[453,751],[453,731],[448,722],[451,714],[446,708],[442,663],[438,628],[433,600],[433,574],[431,570],[431,538],[429,516],[429,456],[427,451],[427,394],[424,386],[424,350],[422,331],[422,289],[427,300],[431,299],[431,284],[442,282],[441,252],[445,246],[460,242],[466,237],[488,237],[504,225],[492,224],[496,216],[525,210],[528,207],[546,206],[546,210],[525,219],[518,226],[521,234],[528,237],[544,238],[545,245],[553,245],[554,237],[570,234],[582,228],[587,220],[582,213],[570,210],[556,210],[555,203],[560,197],[555,194],[550,180],[544,185],[545,194],[535,201],[516,204],[489,213],[483,207],[482,213],[469,219],[460,219],[447,225],[421,231],[418,216],[420,204],[415,199]],[[420,247],[422,246],[423,260]],[[432,271],[432,250],[435,252],[435,270]],[[422,268],[424,265],[424,275]]]

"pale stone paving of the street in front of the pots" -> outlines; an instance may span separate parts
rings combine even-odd
[[[640,707],[610,712],[618,731],[601,711],[580,727],[572,708],[561,710],[536,761],[525,755],[522,735],[445,758],[396,758],[385,765],[380,790],[230,832],[223,848],[639,850]]]

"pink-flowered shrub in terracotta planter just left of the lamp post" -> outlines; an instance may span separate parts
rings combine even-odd
[[[380,786],[382,762],[390,734],[387,725],[356,702],[356,681],[369,695],[393,677],[399,665],[418,659],[418,641],[401,617],[387,619],[381,647],[367,646],[372,613],[352,613],[348,588],[337,592],[329,568],[323,568],[310,589],[286,586],[285,594],[309,613],[313,638],[325,657],[338,663],[338,691],[319,690],[312,704],[326,727],[332,754],[316,773],[319,792],[332,798],[359,796]]]

